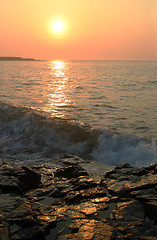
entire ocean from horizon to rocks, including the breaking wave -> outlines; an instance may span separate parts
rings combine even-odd
[[[157,163],[156,61],[1,61],[0,157]]]

